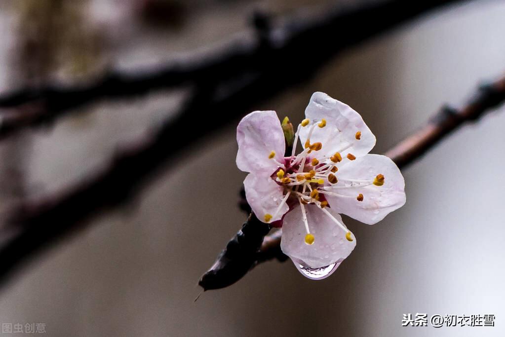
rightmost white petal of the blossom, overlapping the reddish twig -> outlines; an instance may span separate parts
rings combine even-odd
[[[348,180],[373,181],[378,175],[384,175],[384,185],[352,187]],[[349,161],[335,173],[338,183],[328,191],[345,197],[325,194],[331,208],[361,222],[374,224],[390,212],[405,204],[405,181],[396,164],[388,157],[379,154],[367,154]],[[344,188],[342,188],[344,187]],[[363,201],[358,201],[359,194]]]

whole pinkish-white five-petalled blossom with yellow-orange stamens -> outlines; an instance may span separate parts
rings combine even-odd
[[[336,267],[356,246],[339,213],[368,224],[405,204],[405,182],[386,156],[368,154],[375,136],[360,114],[315,92],[293,151],[275,111],[254,111],[237,127],[237,166],[249,172],[246,199],[256,216],[282,227],[281,249],[295,265]],[[298,138],[304,148],[294,155]]]

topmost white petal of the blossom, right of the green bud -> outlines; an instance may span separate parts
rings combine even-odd
[[[347,104],[331,98],[323,92],[315,92],[305,109],[310,124],[300,129],[301,144],[305,144],[311,126],[326,120],[326,126],[316,126],[310,142],[321,142],[322,148],[315,152],[318,158],[341,152],[342,157],[351,153],[361,157],[375,146],[375,136],[363,118]],[[359,138],[359,139],[357,139]]]

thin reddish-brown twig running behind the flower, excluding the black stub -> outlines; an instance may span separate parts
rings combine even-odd
[[[385,155],[399,168],[405,168],[465,123],[481,118],[503,102],[505,102],[505,76],[480,86],[472,98],[460,108],[442,107],[424,127],[393,146]],[[280,251],[280,243],[281,230],[266,236],[258,252],[256,264],[275,258],[284,260],[285,255]]]

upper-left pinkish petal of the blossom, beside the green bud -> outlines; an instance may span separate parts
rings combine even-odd
[[[237,127],[237,166],[241,171],[271,175],[284,162],[284,133],[275,111],[254,111]],[[274,151],[274,158],[269,155]]]

